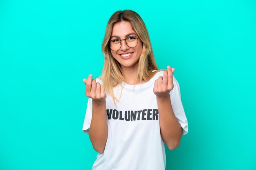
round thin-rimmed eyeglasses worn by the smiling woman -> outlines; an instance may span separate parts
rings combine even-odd
[[[130,36],[126,39],[112,39],[108,42],[108,44],[110,44],[110,49],[113,50],[113,51],[118,51],[120,50],[121,48],[121,41],[122,40],[125,40],[126,42],[126,45],[130,48],[134,48],[137,46],[138,44],[138,40],[139,37],[136,37],[136,36]]]

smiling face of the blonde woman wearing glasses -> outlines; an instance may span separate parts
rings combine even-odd
[[[110,36],[110,40],[113,39],[126,39],[130,36],[136,36],[137,33],[132,30],[132,25],[128,21],[121,21],[116,23],[112,28],[112,34]],[[136,40],[137,41],[137,40]],[[138,39],[138,44],[134,48],[130,48],[126,45],[125,40],[121,41],[121,48],[118,51],[111,50],[113,57],[121,64],[121,68],[124,67],[132,67],[134,68],[139,61],[139,57],[142,52],[142,41]],[[128,54],[132,53],[130,56],[121,56],[121,54]],[[135,67],[136,68],[136,67]]]

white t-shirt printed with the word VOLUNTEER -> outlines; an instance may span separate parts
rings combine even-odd
[[[104,153],[98,153],[92,170],[165,170],[166,155],[160,134],[159,114],[156,96],[153,93],[155,80],[163,76],[157,72],[153,78],[140,85],[122,84],[122,96],[114,105],[111,96],[106,98],[106,118],[108,139]],[[97,82],[102,81],[97,78]],[[188,133],[188,122],[182,106],[180,87],[173,76],[173,89],[170,92],[171,105],[175,117]],[[114,89],[119,99],[121,85]],[[92,119],[92,99],[88,105],[83,123],[83,131],[89,134]]]

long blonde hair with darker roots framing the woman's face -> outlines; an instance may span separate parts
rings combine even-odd
[[[139,14],[131,10],[117,11],[113,13],[110,19],[108,20],[105,36],[101,45],[101,49],[105,60],[100,79],[103,81],[106,93],[112,96],[115,105],[115,100],[119,100],[114,95],[113,87],[121,84],[122,81],[125,81],[125,78],[122,75],[120,64],[111,54],[108,42],[110,40],[110,36],[112,33],[112,27],[114,26],[114,24],[121,21],[130,22],[132,25],[132,29],[137,33],[137,35],[139,36],[143,43],[141,56],[138,62],[137,76],[135,82],[137,80],[139,80],[140,83],[142,80],[149,81],[157,72],[160,71],[158,70],[157,64],[155,62],[155,57],[153,54],[146,25],[144,24]],[[157,71],[152,72],[152,70]]]

